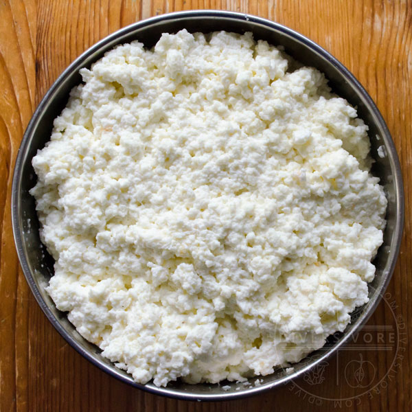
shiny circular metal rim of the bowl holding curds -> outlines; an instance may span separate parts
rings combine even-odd
[[[371,302],[371,306],[368,308],[367,311],[365,311],[365,313],[363,314],[363,317],[361,317],[361,320],[356,325],[356,328],[352,328],[351,330],[349,330],[345,334],[345,336],[343,336],[341,341],[339,341],[339,343],[336,343],[334,347],[332,347],[332,349],[328,350],[328,352],[325,352],[325,354],[323,354],[316,360],[312,361],[310,364],[306,365],[306,367],[303,367],[299,371],[295,371],[292,374],[279,378],[275,382],[268,382],[267,384],[264,384],[264,385],[249,387],[237,393],[228,392],[228,393],[218,393],[218,394],[216,393],[214,394],[207,394],[207,393],[192,394],[192,393],[187,393],[187,392],[185,393],[183,391],[179,391],[179,390],[168,388],[168,387],[155,387],[154,385],[148,385],[148,384],[142,385],[137,382],[134,382],[133,379],[131,378],[128,379],[123,374],[117,373],[113,369],[110,369],[106,364],[100,363],[99,361],[95,360],[95,358],[93,358],[93,356],[91,356],[89,352],[85,351],[80,346],[80,344],[75,339],[73,339],[73,337],[64,328],[62,328],[62,325],[60,324],[58,319],[54,316],[52,311],[49,309],[49,306],[43,300],[43,297],[41,296],[41,293],[39,292],[38,287],[36,286],[36,282],[34,281],[34,277],[32,273],[30,272],[29,265],[27,264],[27,257],[25,255],[25,251],[23,248],[22,227],[21,227],[21,222],[19,219],[19,209],[21,205],[22,168],[27,158],[27,148],[30,144],[31,137],[34,133],[34,130],[36,130],[36,127],[38,126],[41,113],[48,106],[49,101],[52,100],[52,97],[55,91],[65,81],[65,78],[67,78],[67,76],[69,76],[69,74],[71,74],[73,71],[78,70],[78,68],[81,67],[84,60],[87,60],[87,58],[93,55],[93,53],[98,52],[99,49],[101,49],[105,45],[108,45],[108,43],[115,41],[117,38],[121,36],[130,34],[131,32],[134,32],[135,30],[139,30],[148,25],[153,25],[155,23],[160,23],[162,21],[169,21],[169,20],[174,20],[174,19],[187,19],[187,18],[194,17],[194,16],[208,17],[208,18],[212,17],[216,19],[224,17],[225,19],[232,19],[232,20],[238,20],[238,21],[250,21],[252,23],[258,23],[259,25],[264,25],[271,29],[277,30],[278,32],[282,32],[283,34],[286,34],[286,36],[290,36],[291,38],[294,38],[295,40],[300,41],[306,47],[312,49],[312,52],[315,52],[316,54],[321,56],[321,58],[328,60],[330,64],[332,64],[336,69],[338,69],[338,71],[341,73],[343,78],[345,78],[347,82],[350,82],[352,86],[355,89],[357,89],[358,93],[362,95],[363,99],[369,105],[368,108],[371,111],[372,115],[374,115],[376,122],[380,125],[380,127],[384,131],[385,147],[387,148],[387,157],[389,157],[391,168],[394,171],[393,181],[394,181],[394,186],[396,188],[396,221],[393,227],[394,236],[391,242],[391,251],[388,257],[389,270],[386,273],[382,274],[382,275],[385,275],[385,279],[380,284],[380,288],[378,288],[379,290],[377,290],[377,294],[375,295],[376,299],[373,302]],[[341,62],[339,62],[339,60],[334,58],[329,52],[323,49],[323,47],[321,47],[317,43],[314,43],[306,36],[296,32],[293,29],[290,29],[289,27],[286,27],[279,23],[275,23],[274,21],[271,21],[269,19],[264,19],[259,16],[254,16],[253,14],[230,12],[230,11],[223,11],[223,10],[186,10],[186,11],[181,11],[181,12],[171,12],[168,14],[161,14],[159,16],[154,16],[149,19],[142,20],[142,21],[137,21],[136,23],[122,27],[121,29],[102,38],[102,40],[93,44],[91,47],[89,47],[89,49],[85,50],[82,54],[80,54],[78,58],[73,60],[73,62],[71,62],[71,64],[64,71],[62,71],[60,76],[58,76],[58,78],[54,81],[52,86],[47,90],[43,99],[41,100],[36,110],[34,111],[34,114],[32,115],[32,118],[30,119],[29,124],[27,125],[25,133],[23,135],[23,139],[21,141],[21,146],[16,156],[16,162],[14,164],[14,175],[12,179],[12,229],[13,229],[14,242],[16,244],[16,250],[18,253],[18,257],[19,257],[19,262],[21,264],[21,268],[23,269],[25,279],[27,280],[27,283],[29,284],[30,289],[32,290],[32,293],[38,305],[41,307],[41,309],[45,313],[47,319],[49,319],[52,325],[54,325],[54,328],[56,328],[58,333],[65,339],[65,341],[67,341],[67,343],[69,343],[69,345],[71,345],[71,347],[73,347],[78,353],[84,356],[84,358],[90,361],[93,365],[99,367],[106,373],[117,378],[118,380],[121,380],[122,382],[126,382],[129,385],[132,385],[133,387],[143,389],[144,391],[155,393],[161,396],[167,396],[169,398],[181,399],[181,400],[222,401],[222,400],[239,399],[239,398],[244,398],[247,396],[252,396],[258,393],[263,393],[264,391],[268,391],[279,385],[283,385],[284,383],[288,382],[289,380],[293,378],[297,378],[298,376],[301,376],[306,371],[312,369],[315,365],[321,363],[321,361],[324,361],[326,358],[329,358],[332,354],[334,354],[334,352],[336,352],[336,350],[339,347],[341,347],[341,345],[343,345],[345,342],[347,342],[352,337],[352,335],[354,334],[355,330],[357,330],[357,328],[365,324],[365,322],[369,319],[371,314],[376,309],[376,306],[378,306],[378,303],[382,297],[382,293],[387,288],[387,285],[389,284],[389,281],[393,274],[393,270],[396,265],[396,260],[398,258],[398,253],[400,251],[400,243],[402,240],[403,225],[404,225],[404,190],[403,190],[402,172],[400,168],[398,154],[396,152],[396,148],[393,143],[393,140],[391,139],[391,134],[389,133],[389,129],[387,128],[385,120],[383,119],[382,115],[380,114],[380,111],[378,110],[376,104],[371,99],[367,91],[364,89],[361,83],[358,82],[358,80],[354,77],[354,75]]]

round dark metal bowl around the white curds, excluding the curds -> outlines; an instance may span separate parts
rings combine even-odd
[[[255,39],[264,39],[273,45],[282,45],[286,53],[299,62],[316,67],[325,73],[330,80],[329,84],[332,90],[356,106],[358,116],[364,119],[369,126],[371,156],[375,159],[372,173],[380,177],[380,183],[385,187],[389,201],[384,242],[374,260],[376,277],[369,284],[369,302],[356,310],[356,316],[352,316],[352,321],[345,332],[334,334],[325,347],[295,364],[292,374],[287,374],[284,369],[278,369],[270,376],[263,377],[259,386],[245,387],[236,384],[236,382],[225,382],[228,387],[225,387],[226,390],[224,390],[221,385],[188,385],[181,381],[170,382],[168,387],[156,387],[152,383],[139,385],[126,371],[118,369],[113,363],[103,358],[97,346],[80,336],[67,320],[66,314],[56,309],[54,302],[45,292],[45,286],[54,273],[54,261],[48,255],[38,236],[39,224],[34,198],[29,194],[30,188],[36,183],[32,157],[49,140],[53,120],[67,104],[69,91],[76,84],[82,82],[79,74],[80,68],[90,67],[93,62],[117,44],[129,43],[137,39],[147,47],[152,47],[162,33],[177,32],[183,28],[189,32],[205,33],[217,30],[239,33],[253,32]],[[380,149],[379,156],[378,148],[380,146],[384,146],[384,148]],[[20,263],[34,297],[49,321],[74,349],[108,374],[139,389],[185,400],[228,400],[261,393],[304,374],[305,371],[336,352],[345,341],[351,338],[356,329],[367,321],[378,305],[396,263],[403,219],[402,175],[395,146],[378,108],[354,76],[319,45],[287,27],[249,14],[216,10],[164,14],[129,25],[96,43],[71,63],[47,91],[27,126],[16,159],[12,187],[12,222]]]

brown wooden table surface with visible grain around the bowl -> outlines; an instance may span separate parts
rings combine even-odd
[[[400,155],[409,203],[411,1],[0,1],[0,411],[411,410],[412,253],[408,208],[402,250],[385,301],[370,319],[369,332],[363,331],[358,337],[368,343],[376,330],[384,330],[387,335],[382,339],[391,343],[387,332],[391,330],[396,332],[397,352],[393,339],[391,350],[386,352],[341,351],[330,365],[318,371],[315,377],[324,380],[319,386],[314,385],[312,376],[312,385],[301,379],[255,398],[211,404],[153,396],[89,364],[54,330],[32,297],[14,250],[10,192],[14,159],[34,108],[58,74],[100,38],[155,14],[198,8],[267,17],[308,36],[341,60],[366,87],[387,121]],[[379,340],[376,336],[373,339]],[[348,367],[357,373],[355,383],[362,383],[365,374],[369,379],[374,377],[363,395],[356,385],[343,379]]]

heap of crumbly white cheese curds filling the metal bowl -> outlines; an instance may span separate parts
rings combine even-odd
[[[250,33],[119,45],[32,161],[47,292],[137,382],[271,374],[368,300],[367,126],[292,61]]]

